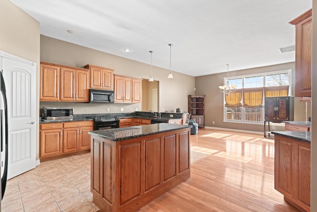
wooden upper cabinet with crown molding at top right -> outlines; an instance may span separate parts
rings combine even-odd
[[[295,25],[295,96],[312,96],[312,9],[289,22]]]

